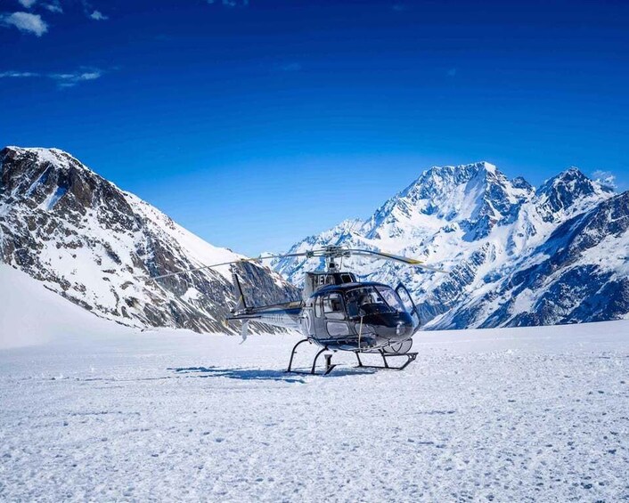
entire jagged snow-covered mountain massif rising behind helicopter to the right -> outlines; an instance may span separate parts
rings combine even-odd
[[[602,252],[604,247],[618,257],[626,256],[626,224],[617,231],[622,225],[614,220],[626,216],[612,216],[622,213],[623,197],[576,168],[535,190],[523,178],[509,180],[486,162],[436,166],[367,220],[340,223],[299,241],[290,253],[347,245],[439,264],[450,273],[358,257],[344,264],[364,279],[394,286],[403,281],[430,329],[615,319],[629,312],[627,259],[599,263],[596,257],[607,253]],[[606,205],[616,210],[606,210]],[[596,224],[584,227],[592,234],[592,239],[584,242],[574,230],[581,229],[578,223],[590,217]],[[616,231],[611,231],[612,227]],[[613,232],[617,233],[612,238]],[[575,247],[573,255],[560,258],[561,250],[568,246]],[[553,265],[531,269],[544,261]],[[274,262],[275,270],[295,284],[303,280],[304,272],[320,265],[317,259]],[[589,271],[586,275],[574,271],[584,268]],[[578,283],[585,276],[592,284],[579,294],[571,291],[568,301],[570,281]],[[519,281],[519,288],[514,281]],[[597,310],[594,302],[615,307]]]

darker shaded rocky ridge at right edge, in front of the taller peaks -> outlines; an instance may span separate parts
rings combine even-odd
[[[439,326],[526,327],[618,320],[629,313],[629,192],[562,223],[489,291]]]

